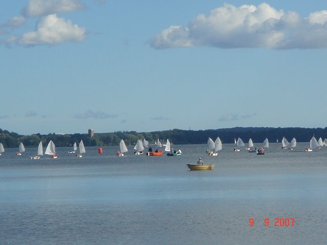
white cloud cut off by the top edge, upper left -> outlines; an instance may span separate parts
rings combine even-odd
[[[76,0],[30,0],[23,13],[27,17],[44,16],[84,9]]]

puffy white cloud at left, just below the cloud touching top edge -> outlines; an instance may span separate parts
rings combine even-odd
[[[36,26],[36,31],[27,32],[21,38],[13,38],[22,45],[59,44],[79,42],[86,36],[85,28],[73,24],[71,20],[58,18],[56,14],[42,17]]]

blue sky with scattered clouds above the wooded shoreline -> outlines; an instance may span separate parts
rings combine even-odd
[[[327,1],[4,1],[0,128],[324,128]]]

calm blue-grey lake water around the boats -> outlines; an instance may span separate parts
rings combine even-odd
[[[0,156],[0,244],[325,244],[327,147],[272,143],[264,156],[224,144],[179,145],[180,157],[86,148],[83,158]],[[186,163],[215,163],[189,171]],[[249,226],[249,218],[254,226]],[[269,218],[266,227],[264,219]],[[275,227],[275,218],[294,226]]]

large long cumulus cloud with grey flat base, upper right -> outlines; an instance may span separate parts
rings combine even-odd
[[[171,26],[149,40],[153,48],[214,46],[220,48],[326,48],[327,11],[302,18],[267,3],[235,7],[225,4],[188,27]]]

